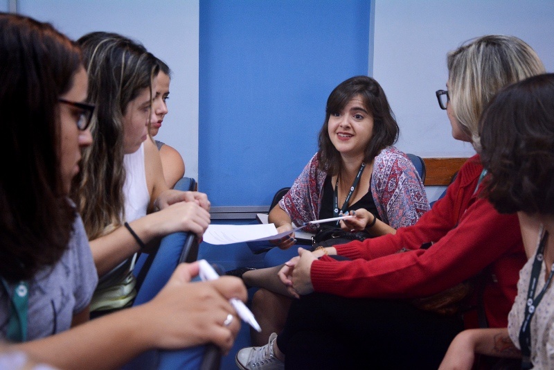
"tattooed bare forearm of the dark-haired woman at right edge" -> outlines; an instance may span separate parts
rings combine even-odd
[[[502,358],[521,357],[507,328],[470,329],[456,335],[439,369],[472,369],[475,353]]]

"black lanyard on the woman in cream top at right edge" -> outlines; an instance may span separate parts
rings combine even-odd
[[[544,283],[544,287],[539,292],[537,297],[535,297],[535,290],[537,290],[537,283],[539,282],[539,275],[542,270],[542,261],[544,260],[544,247],[546,245],[546,240],[548,239],[548,231],[544,231],[544,228],[541,226],[539,230],[539,245],[537,247],[537,254],[535,254],[535,261],[533,261],[533,269],[531,270],[531,279],[529,281],[529,290],[527,292],[527,301],[525,308],[525,317],[524,321],[521,324],[521,329],[519,330],[519,346],[521,347],[521,369],[531,369],[533,363],[531,362],[531,319],[535,314],[535,310],[539,303],[541,302],[544,293],[548,289],[548,285],[552,280],[554,275],[554,268],[551,268],[550,276],[548,280]],[[542,236],[542,237],[541,237]],[[553,266],[554,267],[554,266]]]

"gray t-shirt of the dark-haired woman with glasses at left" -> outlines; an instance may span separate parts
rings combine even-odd
[[[27,340],[48,337],[71,327],[73,315],[89,306],[98,283],[87,233],[80,215],[73,222],[69,247],[53,267],[46,267],[29,282]],[[0,285],[0,338],[6,338],[10,292]]]

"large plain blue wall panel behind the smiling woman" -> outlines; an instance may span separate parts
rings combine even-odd
[[[370,1],[200,2],[199,190],[269,206],[316,151],[331,90],[368,74]]]

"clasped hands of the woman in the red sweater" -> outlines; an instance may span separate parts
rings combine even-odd
[[[295,297],[310,294],[314,291],[310,270],[316,256],[304,248],[298,248],[298,257],[292,258],[278,272],[280,280],[287,285],[289,292]],[[291,289],[292,288],[292,289]]]

